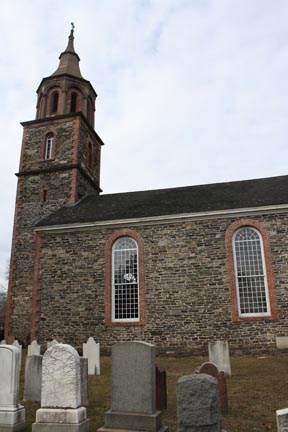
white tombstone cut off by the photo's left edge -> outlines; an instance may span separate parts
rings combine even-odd
[[[19,404],[20,351],[13,345],[0,346],[0,431],[26,428],[25,408]]]

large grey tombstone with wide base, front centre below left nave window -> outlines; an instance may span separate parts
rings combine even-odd
[[[123,342],[112,347],[112,400],[101,431],[165,432],[156,411],[155,347]]]

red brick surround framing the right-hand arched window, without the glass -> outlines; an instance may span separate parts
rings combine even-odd
[[[257,229],[262,236],[264,260],[266,265],[266,277],[267,277],[268,293],[269,293],[269,301],[270,301],[270,309],[271,309],[270,316],[241,317],[239,316],[238,313],[236,272],[234,266],[232,240],[235,231],[245,226]],[[269,234],[264,228],[263,224],[253,219],[240,219],[239,221],[236,221],[229,226],[226,232],[225,242],[226,242],[226,252],[227,252],[228,274],[229,274],[230,286],[231,286],[230,296],[231,296],[232,321],[241,322],[241,321],[277,320],[279,316],[278,316],[278,309],[277,309],[277,302],[276,302],[274,273],[272,268],[270,239],[269,239]]]

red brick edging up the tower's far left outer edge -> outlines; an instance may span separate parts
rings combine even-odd
[[[23,159],[23,147],[26,140],[23,137],[22,144],[22,152],[21,152],[21,162],[22,165]],[[8,339],[10,336],[11,327],[12,327],[12,312],[13,312],[13,295],[14,295],[14,286],[15,286],[15,253],[16,253],[16,243],[18,240],[18,219],[19,219],[19,198],[20,198],[20,190],[21,184],[24,182],[23,177],[18,178],[17,184],[17,192],[16,192],[16,204],[15,204],[15,215],[14,215],[14,225],[13,225],[13,237],[12,237],[12,247],[11,247],[11,257],[10,257],[10,266],[9,266],[9,283],[8,283],[8,295],[6,302],[6,310],[5,310],[5,326],[4,326],[4,339]]]

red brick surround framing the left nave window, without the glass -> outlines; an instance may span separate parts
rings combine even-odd
[[[139,312],[140,319],[136,322],[113,322],[112,321],[112,246],[119,237],[131,237],[138,245],[139,259]],[[145,287],[144,287],[144,242],[142,237],[130,229],[116,231],[105,246],[105,325],[106,326],[139,326],[146,324]]]

